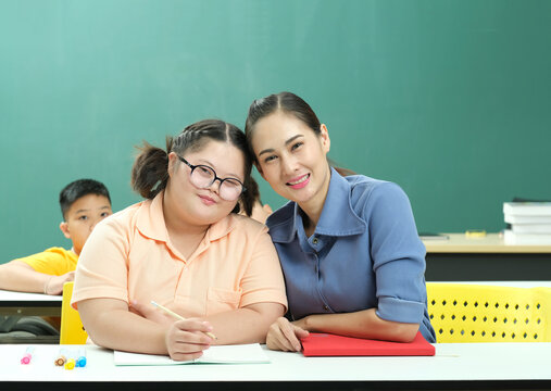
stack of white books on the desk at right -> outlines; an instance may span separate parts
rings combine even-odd
[[[504,202],[505,244],[551,244],[551,202]]]

